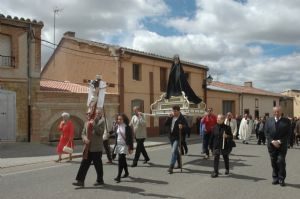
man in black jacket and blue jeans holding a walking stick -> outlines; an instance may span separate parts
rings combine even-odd
[[[168,169],[168,172],[170,174],[173,173],[173,168],[176,163],[176,160],[178,162],[178,167],[181,166],[180,157],[179,157],[179,140],[180,140],[180,133],[181,136],[185,135],[184,132],[187,130],[188,125],[184,118],[184,116],[180,113],[180,107],[178,105],[173,106],[173,111],[170,114],[170,116],[167,118],[165,122],[166,129],[168,129],[169,135],[170,135],[170,142],[172,146],[172,156],[171,156],[171,162],[170,167]]]

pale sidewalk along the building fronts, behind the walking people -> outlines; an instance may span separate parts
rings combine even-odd
[[[193,134],[190,138],[187,138],[187,142],[197,140],[200,140],[200,137],[196,134]],[[150,137],[145,141],[146,148],[168,144],[169,139],[167,136]],[[0,169],[54,161],[58,158],[58,155],[56,154],[56,145],[57,143],[40,144],[27,142],[0,142]],[[111,148],[112,147],[113,146],[111,146]],[[75,145],[72,157],[79,158],[81,156],[82,145],[77,144]],[[63,158],[67,157],[67,155],[63,156]]]

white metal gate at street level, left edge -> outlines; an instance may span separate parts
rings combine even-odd
[[[1,89],[0,140],[16,140],[16,93]]]

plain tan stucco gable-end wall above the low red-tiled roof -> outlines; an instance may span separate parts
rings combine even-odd
[[[115,84],[115,87],[107,88],[107,92],[118,92],[118,60],[110,56],[108,49],[67,38],[61,46],[46,64],[42,78],[82,84],[84,79],[95,79],[101,74],[104,81]]]

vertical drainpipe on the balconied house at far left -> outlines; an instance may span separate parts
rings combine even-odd
[[[32,26],[29,24],[28,32],[27,32],[27,100],[28,100],[28,108],[27,108],[27,118],[28,118],[28,142],[31,141],[31,39],[32,35]]]

